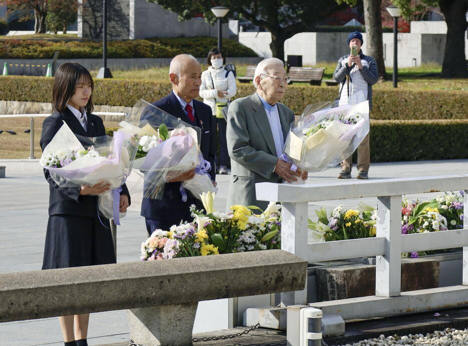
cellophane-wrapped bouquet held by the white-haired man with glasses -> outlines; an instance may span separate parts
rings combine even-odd
[[[334,108],[332,104],[306,107],[286,138],[285,160],[303,170],[322,171],[353,154],[369,132],[369,103]]]

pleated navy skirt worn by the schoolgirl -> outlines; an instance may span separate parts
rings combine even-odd
[[[47,224],[43,269],[115,263],[109,220],[52,215]]]

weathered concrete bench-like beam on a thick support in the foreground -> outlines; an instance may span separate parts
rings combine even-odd
[[[283,250],[0,274],[0,322],[130,309],[134,342],[186,345],[198,301],[301,290],[306,277]]]

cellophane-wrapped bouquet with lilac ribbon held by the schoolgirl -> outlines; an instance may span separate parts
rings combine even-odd
[[[114,132],[113,137],[80,136],[64,122],[44,148],[40,164],[59,186],[110,184],[110,190],[99,195],[99,212],[120,224],[119,218],[125,216],[119,213],[120,191],[132,169],[135,144],[123,132]]]

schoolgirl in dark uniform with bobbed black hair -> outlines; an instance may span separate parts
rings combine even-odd
[[[92,114],[93,78],[77,62],[67,62],[57,69],[52,90],[54,113],[42,127],[41,147],[52,140],[63,121],[78,135],[105,135],[102,119]],[[99,217],[97,195],[109,189],[106,182],[93,186],[61,187],[44,169],[49,182],[49,221],[44,248],[43,269],[66,268],[116,262],[109,220]],[[120,211],[130,205],[125,185],[120,193]],[[89,313],[59,317],[67,346],[87,346]]]

